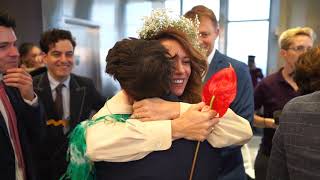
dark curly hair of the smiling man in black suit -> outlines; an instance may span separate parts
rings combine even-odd
[[[40,38],[40,48],[44,53],[48,53],[49,49],[54,47],[54,45],[60,40],[69,40],[73,46],[76,47],[76,41],[72,37],[70,31],[63,29],[51,29],[42,33]]]

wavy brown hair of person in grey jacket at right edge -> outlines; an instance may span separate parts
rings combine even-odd
[[[320,90],[320,47],[302,54],[295,67],[294,80],[302,94]]]

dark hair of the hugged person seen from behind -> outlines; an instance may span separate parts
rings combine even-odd
[[[173,62],[157,40],[123,39],[108,52],[106,72],[134,100],[170,92]]]

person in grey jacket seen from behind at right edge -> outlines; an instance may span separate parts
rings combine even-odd
[[[294,79],[301,93],[307,95],[292,99],[282,111],[273,137],[269,180],[320,179],[319,72],[318,47],[302,54],[296,63]]]

